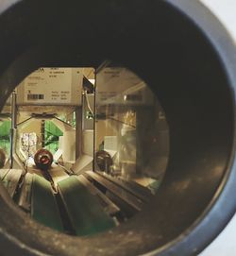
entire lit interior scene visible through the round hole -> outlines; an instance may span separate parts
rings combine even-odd
[[[76,236],[110,230],[159,190],[169,156],[165,112],[124,67],[41,67],[0,118],[1,180],[44,226]]]

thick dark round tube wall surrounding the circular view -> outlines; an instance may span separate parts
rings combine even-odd
[[[112,1],[93,9],[89,2],[81,1],[79,7],[78,3],[60,6],[59,2],[57,11],[54,6],[42,9],[41,5],[23,2],[2,16],[3,25],[14,17],[8,27],[12,33],[6,33],[2,42],[5,62],[1,63],[2,74],[12,63],[14,76],[3,74],[3,92],[9,94],[31,71],[43,66],[98,68],[108,59],[122,63],[142,77],[158,95],[165,111],[170,128],[165,177],[157,195],[141,213],[116,229],[84,238],[42,228],[25,214],[10,211],[12,206],[6,204],[2,193],[2,226],[6,234],[18,239],[12,243],[3,234],[3,249],[18,250],[19,254],[38,250],[61,255],[75,255],[78,251],[85,255],[137,255],[157,248],[155,253],[176,249],[172,252],[191,254],[196,247],[197,253],[226,225],[235,210],[233,202],[226,204],[223,199],[230,195],[235,181],[230,171],[234,85],[229,78],[234,69],[234,62],[230,62],[234,48],[224,29],[197,3],[185,11],[195,22],[200,20],[197,15],[201,11],[208,15],[216,25],[201,22],[201,26],[214,43],[218,33],[215,27],[221,29],[227,51],[222,51],[224,45],[215,43],[220,49],[216,53],[203,32],[167,2]],[[80,15],[77,9],[81,10]],[[55,30],[41,22],[39,13]],[[65,13],[66,20],[61,18]],[[90,22],[86,24],[88,17]],[[21,31],[20,36],[17,31]],[[219,220],[217,205],[224,206],[226,213],[218,226],[209,229],[208,220]],[[204,218],[206,214],[208,218]],[[186,230],[185,236],[169,244]],[[194,239],[199,235],[197,230],[206,236]],[[184,247],[188,239],[194,239],[194,243]]]

